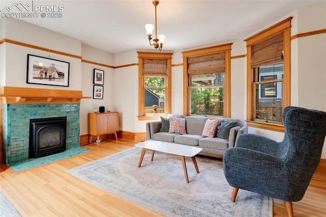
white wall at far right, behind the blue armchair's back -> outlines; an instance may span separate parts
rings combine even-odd
[[[299,9],[297,14],[299,33],[326,29],[326,3]],[[292,43],[297,44],[298,106],[326,112],[326,34]],[[321,158],[326,159],[326,142]]]

